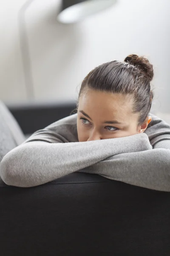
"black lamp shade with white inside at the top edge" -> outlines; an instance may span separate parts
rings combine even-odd
[[[61,23],[76,23],[111,7],[115,2],[116,0],[62,0],[62,9],[57,20]]]

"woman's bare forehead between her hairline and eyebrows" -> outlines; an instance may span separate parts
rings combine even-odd
[[[132,102],[124,95],[88,90],[79,98],[79,108],[92,119],[119,119],[129,122],[138,117],[131,111]]]

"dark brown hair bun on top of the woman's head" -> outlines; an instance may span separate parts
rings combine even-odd
[[[147,58],[144,58],[143,56],[139,57],[136,54],[130,54],[125,58],[124,61],[140,67],[150,81],[153,79],[153,65],[150,64]]]

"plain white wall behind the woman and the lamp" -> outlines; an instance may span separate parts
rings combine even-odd
[[[0,99],[28,101],[19,41],[23,0],[1,0]],[[34,0],[26,11],[34,100],[77,99],[81,81],[94,67],[135,53],[153,64],[153,113],[170,113],[170,1],[117,0],[83,22],[57,23],[59,0]]]

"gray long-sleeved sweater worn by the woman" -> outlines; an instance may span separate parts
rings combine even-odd
[[[78,142],[77,114],[65,117],[9,151],[0,176],[8,185],[31,187],[86,172],[170,192],[170,125],[149,115],[142,134],[87,142]]]

